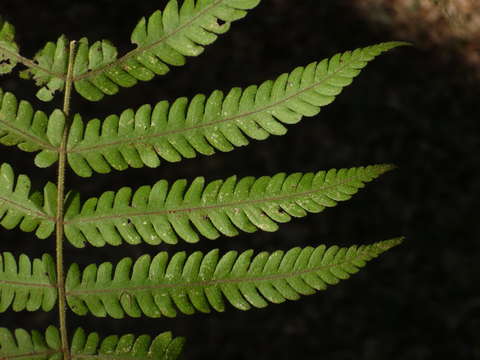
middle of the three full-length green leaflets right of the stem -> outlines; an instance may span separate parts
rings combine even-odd
[[[318,213],[352,197],[391,165],[331,169],[317,173],[294,173],[216,180],[203,177],[190,185],[177,180],[171,187],[161,180],[135,192],[124,187],[90,198],[83,205],[71,194],[65,213],[65,236],[76,247],[130,244],[142,240],[157,245],[176,244],[178,238],[194,243],[200,236],[216,239],[238,230],[276,231],[277,223],[308,212]]]

